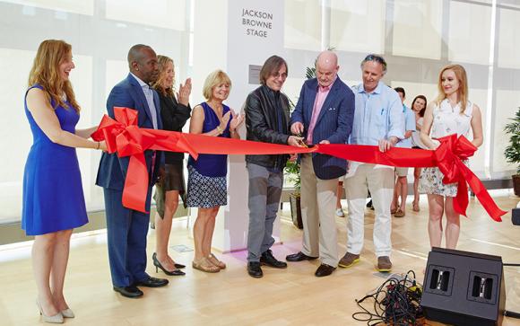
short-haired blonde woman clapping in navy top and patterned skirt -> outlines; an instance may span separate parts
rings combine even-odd
[[[206,77],[203,94],[206,101],[195,106],[189,125],[192,134],[239,139],[237,128],[244,122],[223,104],[230,95],[230,77],[216,70]],[[191,156],[187,163],[188,207],[198,207],[193,229],[195,258],[193,268],[215,273],[226,268],[226,264],[212,254],[212,236],[215,217],[221,206],[228,203],[226,175],[228,155],[200,154],[195,161]]]

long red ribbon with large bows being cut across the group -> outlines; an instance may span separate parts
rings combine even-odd
[[[144,151],[160,150],[198,154],[330,154],[346,160],[385,164],[401,167],[438,166],[443,172],[444,183],[458,182],[454,208],[459,214],[466,216],[468,192],[466,181],[482,207],[491,218],[501,221],[500,216],[507,212],[499,209],[490,197],[487,189],[477,176],[462,162],[477,149],[465,137],[456,135],[442,137],[436,151],[424,151],[409,148],[392,148],[385,153],[379,152],[377,146],[371,145],[316,145],[311,148],[278,145],[248,140],[204,135],[185,134],[175,131],[155,130],[137,127],[137,111],[128,108],[114,108],[111,119],[103,117],[100,126],[92,134],[97,141],[105,140],[108,153],[117,153],[119,157],[130,156],[125,188],[123,189],[123,206],[145,212],[145,198],[148,191],[148,169],[144,160]]]

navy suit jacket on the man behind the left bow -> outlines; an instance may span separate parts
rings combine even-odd
[[[160,120],[160,100],[157,92],[153,92],[153,103],[157,111],[157,128],[162,128]],[[114,107],[126,107],[137,110],[138,122],[140,128],[153,128],[152,115],[148,102],[143,93],[143,88],[137,82],[133,75],[128,74],[126,79],[112,88],[107,99],[108,116],[114,119]],[[150,176],[149,186],[152,186],[157,179],[157,173],[163,159],[161,152],[156,152],[154,173],[152,173],[152,150],[144,152],[148,174]],[[103,153],[101,155],[100,168],[96,178],[96,184],[106,189],[123,190],[126,180],[126,172],[128,170],[129,157],[118,157],[117,154]],[[149,198],[147,198],[147,206]],[[148,209],[148,208],[147,208]]]

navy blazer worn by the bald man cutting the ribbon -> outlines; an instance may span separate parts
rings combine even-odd
[[[307,138],[317,85],[316,78],[303,84],[296,108],[290,116],[290,125],[295,122],[303,124],[304,138]],[[351,136],[354,109],[354,93],[337,77],[316,120],[312,135],[313,145],[325,139],[331,144],[345,144]],[[316,177],[322,180],[338,178],[346,173],[346,161],[331,155],[312,154],[312,163]]]

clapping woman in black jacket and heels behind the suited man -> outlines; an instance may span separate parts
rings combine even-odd
[[[189,94],[191,93],[191,79],[180,84],[177,98],[173,92],[175,84],[175,70],[173,60],[165,56],[157,56],[159,64],[159,77],[153,84],[153,88],[159,93],[160,119],[164,130],[182,132],[182,128],[190,118]],[[164,152],[164,175],[160,182],[155,184],[155,202],[157,213],[155,214],[155,252],[152,260],[155,270],[161,269],[166,275],[185,275],[182,268],[186,266],[177,264],[168,254],[169,233],[171,221],[177,211],[178,197],[185,200],[185,183],[183,174],[184,154],[176,152]]]

